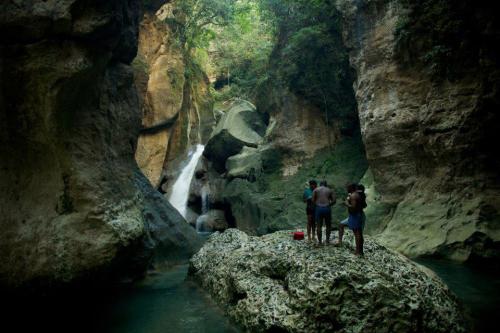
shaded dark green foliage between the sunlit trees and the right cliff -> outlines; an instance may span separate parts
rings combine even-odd
[[[261,0],[261,5],[278,34],[270,84],[304,96],[325,112],[327,122],[353,118],[353,79],[334,2]],[[356,123],[349,121],[350,126]]]

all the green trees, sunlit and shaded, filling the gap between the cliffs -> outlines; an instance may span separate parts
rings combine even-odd
[[[168,24],[193,60],[216,78],[216,102],[258,102],[290,90],[356,127],[355,99],[340,15],[330,0],[178,1]],[[207,67],[208,65],[208,67]]]

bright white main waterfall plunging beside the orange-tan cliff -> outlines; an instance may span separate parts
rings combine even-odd
[[[172,187],[172,194],[168,199],[172,206],[174,206],[183,217],[186,217],[189,187],[191,186],[191,180],[193,179],[196,165],[200,160],[201,154],[203,154],[203,149],[205,149],[205,146],[196,145],[196,149],[191,153],[188,164],[182,169],[179,178],[175,181]]]

